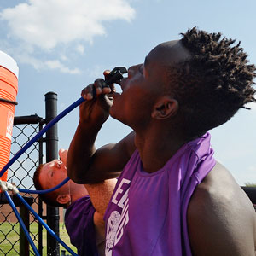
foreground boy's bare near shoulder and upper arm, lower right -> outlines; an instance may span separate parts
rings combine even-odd
[[[219,163],[195,189],[187,213],[194,255],[255,255],[253,204]]]

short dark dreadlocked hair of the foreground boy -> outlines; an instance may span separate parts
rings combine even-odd
[[[193,137],[224,124],[248,102],[256,102],[256,68],[247,64],[240,42],[232,46],[236,40],[222,38],[219,32],[194,27],[181,35],[191,57],[169,67],[168,75],[179,103],[183,131]]]

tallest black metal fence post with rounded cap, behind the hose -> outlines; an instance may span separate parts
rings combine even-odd
[[[45,120],[46,124],[54,119],[57,115],[57,94],[55,92],[48,92],[45,96]],[[58,131],[57,124],[53,125],[46,132],[46,161],[55,160],[58,158]],[[59,208],[47,206],[47,224],[54,230],[57,236],[60,235],[59,231]],[[59,256],[60,245],[52,236],[47,233],[47,255]]]

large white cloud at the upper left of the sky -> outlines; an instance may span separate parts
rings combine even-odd
[[[58,53],[60,49],[71,47],[82,54],[84,44],[91,44],[96,36],[107,33],[104,22],[129,22],[134,15],[135,10],[125,0],[28,0],[14,8],[3,9],[0,19],[7,22],[6,40],[19,40],[20,53],[33,55],[32,65],[37,66],[35,52],[62,55]],[[78,73],[60,61],[47,61],[47,65],[61,72]]]

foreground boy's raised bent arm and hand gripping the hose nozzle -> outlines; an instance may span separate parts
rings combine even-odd
[[[102,89],[103,84],[102,79],[97,79],[95,84],[88,85],[82,91],[86,101],[80,105],[79,125],[67,154],[67,175],[75,183],[99,183],[118,177],[135,150],[133,132],[119,143],[96,150],[96,136],[108,119],[113,103],[106,95],[110,89]],[[93,87],[97,92],[94,98]]]

